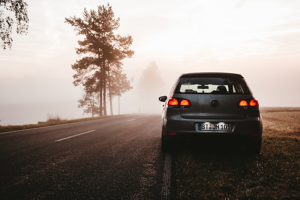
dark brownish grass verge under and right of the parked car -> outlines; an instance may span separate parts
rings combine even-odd
[[[262,108],[262,150],[175,153],[177,199],[300,199],[300,109]]]

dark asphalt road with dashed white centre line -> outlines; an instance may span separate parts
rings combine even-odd
[[[174,199],[161,116],[0,134],[0,199]]]

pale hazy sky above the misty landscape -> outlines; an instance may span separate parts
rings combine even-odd
[[[168,95],[182,73],[229,72],[244,76],[260,106],[300,106],[298,0],[25,2],[28,34],[13,33],[11,50],[0,49],[0,105],[72,101],[78,109],[82,89],[72,84],[71,64],[80,59],[75,48],[82,37],[65,17],[109,3],[120,18],[115,33],[131,35],[135,51],[123,60],[134,88],[121,97],[121,114],[137,112],[130,106],[136,84],[152,61],[165,82],[158,96]]]

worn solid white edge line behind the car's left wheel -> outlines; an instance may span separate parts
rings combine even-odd
[[[164,164],[164,175],[163,175],[163,186],[161,188],[161,194],[164,199],[169,199],[170,187],[171,187],[171,154],[166,154],[165,164]]]

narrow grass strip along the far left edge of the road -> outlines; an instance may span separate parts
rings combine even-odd
[[[76,122],[83,122],[83,121],[92,121],[98,119],[105,119],[111,117],[117,117],[122,115],[107,115],[101,117],[88,117],[88,118],[80,118],[80,119],[62,119],[59,115],[55,114],[47,114],[46,121],[39,121],[38,124],[25,124],[25,125],[7,125],[1,126],[0,125],[0,133],[17,131],[17,130],[26,130],[32,128],[41,128],[41,127],[48,127],[48,126],[56,126],[61,124],[70,124]]]

